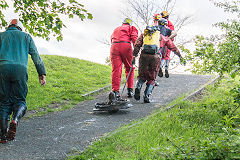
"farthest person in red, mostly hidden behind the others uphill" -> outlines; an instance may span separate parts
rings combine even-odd
[[[171,21],[168,20],[169,18],[169,13],[167,11],[163,11],[161,13],[161,16],[162,18],[166,19],[168,24],[167,24],[167,27],[171,30],[174,31],[174,25],[172,24]],[[173,41],[174,39],[172,39]],[[164,54],[164,56],[162,57],[162,60],[161,60],[161,66],[160,66],[160,69],[159,69],[159,77],[163,77],[163,72],[162,72],[162,68],[165,64],[165,77],[168,78],[169,77],[169,73],[168,73],[168,67],[169,67],[169,62],[170,62],[170,53],[171,53],[171,50],[167,50],[166,51],[166,54]]]

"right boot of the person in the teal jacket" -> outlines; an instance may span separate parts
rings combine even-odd
[[[26,106],[19,106],[16,108],[16,111],[14,111],[12,121],[10,123],[9,130],[7,132],[7,139],[9,141],[12,141],[15,139],[18,122],[25,115],[26,110],[27,110]]]

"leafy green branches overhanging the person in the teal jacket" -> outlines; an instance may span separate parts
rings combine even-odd
[[[77,0],[0,0],[0,28],[8,24],[2,10],[9,8],[13,4],[14,12],[19,14],[19,20],[25,29],[33,36],[50,39],[50,35],[63,39],[61,30],[66,27],[63,23],[62,15],[68,18],[74,16],[84,19],[92,19],[92,14],[84,8]]]

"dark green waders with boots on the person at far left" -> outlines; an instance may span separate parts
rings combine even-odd
[[[13,140],[16,135],[17,122],[24,116],[27,105],[27,68],[17,64],[0,65],[0,129],[1,141],[6,137]],[[8,133],[10,115],[12,122]]]

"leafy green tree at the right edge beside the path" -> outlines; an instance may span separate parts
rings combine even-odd
[[[224,34],[211,37],[197,36],[195,39],[196,50],[188,53],[188,60],[193,64],[194,73],[232,73],[240,68],[240,0],[231,2],[213,2],[226,12],[236,14],[236,18],[227,22],[219,22]]]

